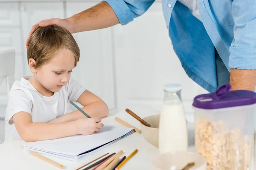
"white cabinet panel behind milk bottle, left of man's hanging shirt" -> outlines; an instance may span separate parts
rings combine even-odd
[[[114,47],[118,105],[160,111],[163,85],[173,82],[183,86],[185,109],[192,112],[192,99],[202,89],[189,79],[172,49],[161,2],[128,25],[115,26]]]

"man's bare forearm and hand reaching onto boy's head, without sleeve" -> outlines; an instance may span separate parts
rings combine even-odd
[[[89,31],[101,28],[107,28],[118,24],[118,18],[115,12],[108,5],[107,2],[101,3],[88,8],[78,14],[73,15],[67,19],[52,18],[48,20],[42,20],[32,26],[28,39],[26,40],[26,48],[29,46],[29,39],[32,33],[39,27],[46,27],[49,25],[57,25],[66,28],[70,33],[76,33],[81,31]]]

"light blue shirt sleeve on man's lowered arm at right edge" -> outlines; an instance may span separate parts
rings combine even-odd
[[[256,0],[232,3],[234,40],[230,46],[230,68],[256,69]]]

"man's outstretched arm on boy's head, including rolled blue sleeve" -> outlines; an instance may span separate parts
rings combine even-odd
[[[90,31],[114,26],[118,23],[125,25],[135,17],[145,13],[155,0],[104,0],[96,6],[88,8],[67,19],[52,18],[42,20],[32,26],[26,47],[32,33],[39,27],[57,25],[66,28],[70,33]]]

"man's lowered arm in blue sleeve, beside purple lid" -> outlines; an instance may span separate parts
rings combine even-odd
[[[230,46],[232,90],[254,91],[256,86],[256,1],[234,0],[234,40]]]

